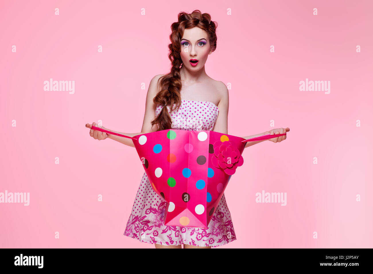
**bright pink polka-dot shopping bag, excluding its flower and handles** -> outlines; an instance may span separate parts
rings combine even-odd
[[[241,137],[219,132],[162,130],[136,136],[134,141],[154,192],[169,204],[168,226],[207,228],[223,195],[229,175],[211,164],[211,145],[230,141],[241,153]]]

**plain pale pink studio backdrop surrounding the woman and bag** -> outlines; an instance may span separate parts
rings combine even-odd
[[[373,247],[372,1],[189,4],[0,2],[0,192],[30,193],[29,206],[0,204],[1,248],[154,248],[123,235],[144,173],[135,148],[85,124],[141,131],[170,25],[194,9],[219,24],[206,72],[229,88],[228,133],[290,128],[245,148],[225,190],[237,240],[219,248]],[[44,91],[50,78],[75,93]],[[330,94],[300,91],[306,78]],[[262,190],[286,192],[286,206],[256,203]]]

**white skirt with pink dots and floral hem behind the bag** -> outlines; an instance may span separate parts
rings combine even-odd
[[[159,245],[220,246],[236,240],[231,214],[223,194],[207,229],[165,226],[167,202],[154,192],[144,172],[123,235]]]

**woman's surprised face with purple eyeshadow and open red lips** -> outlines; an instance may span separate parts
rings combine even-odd
[[[207,57],[211,52],[206,31],[197,26],[184,30],[181,39],[180,56],[185,68],[192,71],[200,70],[205,65]],[[194,62],[191,62],[191,59],[198,61],[194,60]]]

